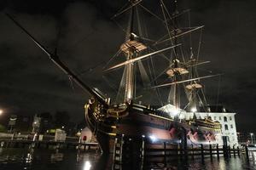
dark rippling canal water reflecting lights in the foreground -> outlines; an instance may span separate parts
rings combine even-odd
[[[111,158],[101,156],[96,152],[78,150],[55,149],[19,149],[0,148],[0,170],[92,170],[111,169]],[[137,161],[139,162],[139,161]],[[135,162],[135,163],[137,163]],[[131,168],[123,168],[131,169]],[[188,170],[241,170],[256,169],[256,151],[249,152],[249,161],[244,155],[232,156],[229,159],[217,157],[200,157],[183,161],[168,162],[166,165],[160,162],[147,162],[141,169],[188,169]]]

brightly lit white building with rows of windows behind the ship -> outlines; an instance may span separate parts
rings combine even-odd
[[[174,105],[165,105],[160,108],[160,111],[166,111],[170,113],[172,118],[179,114],[180,119],[191,120],[194,116],[193,112],[176,110]],[[197,119],[204,119],[210,116],[212,118],[212,121],[218,121],[221,124],[221,134],[217,136],[217,143],[219,145],[223,145],[223,137],[226,136],[228,140],[228,145],[230,145],[230,147],[232,147],[234,144],[236,144],[237,146],[238,140],[236,134],[235,119],[236,113],[226,111],[223,106],[208,107],[207,111],[209,112],[195,112],[195,116]]]

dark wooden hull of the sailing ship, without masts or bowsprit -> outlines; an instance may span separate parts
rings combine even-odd
[[[168,118],[154,109],[143,105],[128,105],[105,110],[96,103],[84,106],[85,120],[90,130],[96,135],[103,153],[113,153],[116,138],[125,136],[129,139],[148,139],[151,144],[168,142],[171,144],[214,144],[218,127],[195,122],[179,122]],[[101,108],[101,109],[100,109]],[[201,120],[203,121],[203,120]],[[184,139],[186,138],[186,139]],[[152,146],[153,146],[152,145]]]

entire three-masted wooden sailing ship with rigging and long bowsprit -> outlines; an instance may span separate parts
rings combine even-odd
[[[163,0],[158,3],[160,8],[154,8],[156,12],[152,12],[147,1],[130,0],[113,16],[113,20],[123,20],[124,15],[129,16],[125,41],[113,57],[124,61],[116,65],[108,62],[111,66],[106,65],[104,70],[107,76],[113,71],[123,70],[116,99],[110,99],[97,88],[87,86],[56,54],[51,54],[9,16],[48,54],[55,65],[91,94],[89,102],[84,105],[85,120],[105,153],[113,152],[118,137],[144,138],[152,144],[166,141],[173,144],[202,144],[214,143],[220,133],[219,122],[213,122],[211,118],[201,119],[195,114],[186,117],[187,112],[195,113],[200,108],[207,112],[207,101],[202,94],[200,81],[215,76],[200,77],[197,71],[199,65],[207,63],[199,60],[203,26],[190,26],[190,19],[188,26],[181,26],[181,18],[189,16],[189,10],[178,12],[176,0],[170,4]],[[143,20],[143,12],[146,20]],[[149,26],[145,26],[148,20]],[[153,24],[154,20],[156,24]],[[196,50],[192,44],[195,32],[199,34]],[[160,59],[164,61],[155,64]],[[167,82],[163,81],[165,77]],[[165,100],[160,95],[162,89],[165,92],[162,94],[168,94],[164,95]],[[169,93],[166,93],[166,89]],[[187,98],[186,102],[181,102],[184,101],[181,96]],[[150,99],[153,100],[151,103]]]

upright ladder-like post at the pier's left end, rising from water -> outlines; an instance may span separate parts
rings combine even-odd
[[[114,139],[113,145],[113,170],[122,169],[122,156],[123,156],[123,144],[124,144],[124,134],[120,138]]]

